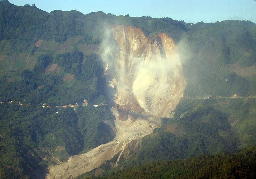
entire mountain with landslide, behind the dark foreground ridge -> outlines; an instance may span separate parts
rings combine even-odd
[[[4,0],[0,30],[0,178],[118,174],[256,144],[255,23]]]

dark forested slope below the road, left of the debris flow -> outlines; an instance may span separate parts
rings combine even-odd
[[[74,110],[11,103],[0,107],[0,178],[38,177],[47,164],[66,161],[115,135],[104,123],[113,120],[105,106]]]

